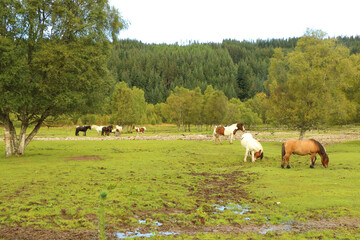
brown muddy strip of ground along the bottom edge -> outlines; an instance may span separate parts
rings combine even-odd
[[[158,232],[173,233],[174,236],[179,234],[195,235],[199,232],[202,233],[223,233],[223,234],[239,234],[239,233],[259,233],[266,234],[267,232],[273,232],[279,234],[284,231],[291,231],[295,233],[303,233],[311,230],[331,230],[342,227],[343,229],[356,229],[360,228],[359,219],[353,218],[340,218],[336,220],[323,219],[323,220],[312,220],[306,223],[291,222],[282,225],[223,225],[223,226],[193,226],[185,228],[159,228]],[[139,230],[144,235],[146,230]],[[109,232],[108,232],[109,233]],[[120,235],[112,233],[108,235],[110,239],[117,239]],[[131,237],[131,236],[129,236]],[[96,230],[50,230],[50,229],[35,229],[31,227],[2,227],[0,229],[0,239],[11,239],[11,240],[95,240],[98,239],[98,233]],[[321,238],[320,238],[321,239]]]

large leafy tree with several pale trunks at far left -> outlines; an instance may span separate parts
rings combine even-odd
[[[115,41],[123,26],[107,0],[1,1],[5,156],[24,154],[49,116],[86,112],[101,103],[112,82],[109,39]],[[20,122],[18,136],[14,121]]]

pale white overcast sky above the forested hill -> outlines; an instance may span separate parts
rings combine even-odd
[[[360,0],[110,0],[129,22],[121,39],[185,44],[223,39],[360,35]]]

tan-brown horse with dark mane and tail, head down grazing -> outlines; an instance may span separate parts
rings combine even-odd
[[[325,151],[325,148],[316,140],[308,139],[308,140],[298,140],[298,139],[290,139],[282,144],[281,148],[281,156],[282,156],[282,164],[281,167],[284,168],[285,161],[287,162],[287,168],[290,168],[289,158],[291,154],[297,155],[310,155],[310,167],[314,168],[314,164],[316,161],[316,154],[319,154],[321,157],[321,163],[324,167],[328,167],[329,165],[329,157]]]

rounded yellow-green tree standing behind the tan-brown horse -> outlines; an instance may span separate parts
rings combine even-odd
[[[326,123],[344,123],[354,106],[341,90],[352,77],[350,52],[319,31],[308,32],[295,51],[285,55],[276,49],[266,83],[272,121],[306,131]],[[332,119],[332,122],[329,120]],[[334,121],[336,119],[336,121]]]

